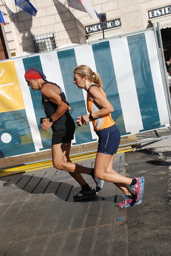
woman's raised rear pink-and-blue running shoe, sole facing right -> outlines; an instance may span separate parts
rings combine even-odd
[[[126,185],[127,189],[135,195],[135,201],[139,202],[143,196],[144,191],[144,177],[135,177],[137,183],[133,186]]]

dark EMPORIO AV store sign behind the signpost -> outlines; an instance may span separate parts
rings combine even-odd
[[[116,29],[118,27],[121,27],[121,18],[107,21],[107,28],[104,30]],[[86,30],[86,35],[90,35],[96,32],[100,32],[102,29],[101,29],[100,23],[96,23],[93,25],[85,26],[85,30]]]

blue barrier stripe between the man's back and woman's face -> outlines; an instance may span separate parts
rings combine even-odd
[[[57,54],[62,72],[62,78],[64,81],[67,101],[70,103],[70,106],[72,108],[70,113],[74,121],[76,122],[77,116],[81,116],[87,113],[87,109],[84,101],[83,91],[81,89],[78,89],[77,86],[73,84],[73,68],[77,66],[75,51],[74,49],[69,49],[57,52]],[[81,127],[78,127],[76,125],[75,138],[75,144],[82,144],[94,141],[92,139],[90,125],[82,125]]]

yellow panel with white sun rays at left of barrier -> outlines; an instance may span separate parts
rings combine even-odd
[[[0,63],[0,113],[25,109],[14,61]]]

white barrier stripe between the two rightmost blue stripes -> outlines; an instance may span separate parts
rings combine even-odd
[[[109,43],[126,132],[137,134],[143,129],[143,123],[127,38],[113,38]],[[117,124],[117,120],[115,122]]]

